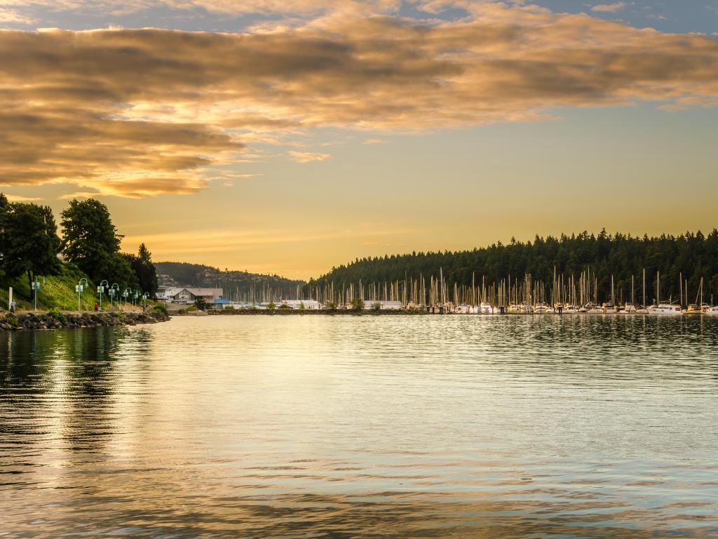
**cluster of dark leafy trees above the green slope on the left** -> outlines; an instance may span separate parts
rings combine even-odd
[[[83,272],[93,286],[106,280],[108,285],[117,285],[117,295],[127,287],[155,295],[157,275],[151,254],[144,244],[137,255],[120,252],[121,236],[104,204],[92,198],[70,201],[60,225],[62,236],[49,206],[10,203],[0,193],[3,286],[23,275],[28,284],[40,276],[60,275],[63,259]]]

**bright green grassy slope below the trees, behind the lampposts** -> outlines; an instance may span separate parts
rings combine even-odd
[[[85,277],[85,275],[73,264],[62,264],[60,275],[45,277],[45,284],[40,285],[37,295],[37,308],[48,309],[55,307],[61,310],[78,310],[78,293],[75,292],[75,285],[78,284],[78,280],[82,277]],[[39,281],[42,283],[42,277],[39,277]],[[9,286],[12,287],[13,298],[19,309],[33,308],[32,295],[25,275],[10,282]],[[85,287],[81,298],[83,310],[91,310],[94,307],[98,298],[95,290],[96,285],[91,282],[90,286]],[[7,293],[7,285],[5,285],[0,290],[0,307],[3,309],[7,308]],[[103,307],[108,307],[109,303],[108,296],[103,295]]]

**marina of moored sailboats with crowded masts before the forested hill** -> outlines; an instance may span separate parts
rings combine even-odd
[[[636,282],[632,275],[617,286],[610,276],[610,289],[601,290],[595,272],[586,270],[578,276],[559,275],[554,270],[553,282],[546,285],[533,281],[531,275],[516,280],[477,281],[475,273],[470,285],[448,282],[439,275],[407,278],[394,282],[345,283],[325,282],[323,285],[297,286],[294,298],[284,298],[283,292],[270,286],[253,289],[236,300],[215,300],[216,308],[233,310],[338,310],[411,311],[432,314],[463,315],[718,315],[718,306],[704,302],[704,279],[701,278],[690,303],[688,280],[681,274],[679,298],[668,301],[661,296],[661,275],[651,288],[652,302],[648,303],[645,270],[641,275],[640,303],[636,298]],[[230,292],[231,296],[231,292]],[[712,295],[711,295],[712,300]]]

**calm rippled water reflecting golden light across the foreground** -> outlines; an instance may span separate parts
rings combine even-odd
[[[0,334],[0,537],[718,537],[718,320]]]

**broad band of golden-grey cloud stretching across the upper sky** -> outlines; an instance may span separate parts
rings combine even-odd
[[[564,106],[718,103],[711,37],[535,6],[464,8],[459,22],[333,14],[242,34],[1,31],[0,181],[193,193],[212,180],[208,165],[243,159],[243,142],[314,127],[421,131]]]

